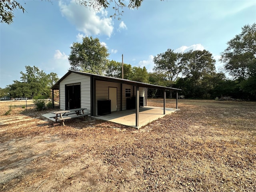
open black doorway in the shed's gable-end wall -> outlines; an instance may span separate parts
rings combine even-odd
[[[66,110],[81,108],[81,92],[79,85],[66,85]]]

